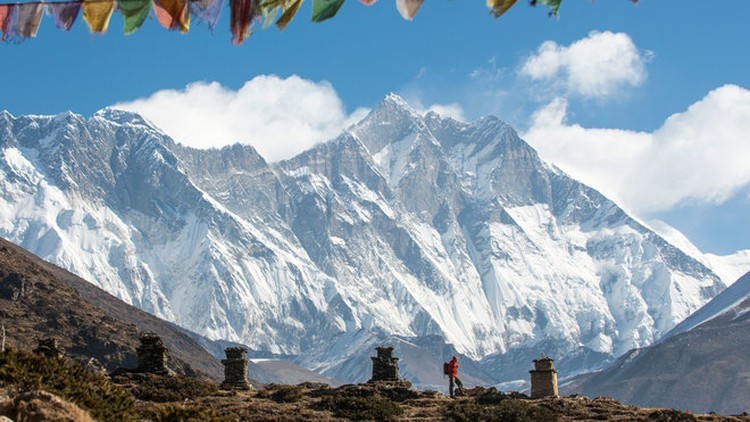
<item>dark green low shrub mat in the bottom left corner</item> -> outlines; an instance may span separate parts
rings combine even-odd
[[[29,352],[0,353],[0,382],[18,391],[44,390],[87,410],[97,420],[136,420],[135,399],[101,375],[64,359]]]

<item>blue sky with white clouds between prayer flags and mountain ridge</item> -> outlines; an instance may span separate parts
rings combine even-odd
[[[126,37],[115,14],[92,36],[45,17],[37,38],[0,45],[0,109],[88,116],[117,104],[180,142],[247,142],[278,159],[396,92],[464,120],[497,115],[703,251],[750,249],[750,3],[564,0],[555,19],[519,0],[496,20],[483,1],[430,0],[408,22],[393,1],[348,0],[332,20],[309,16],[308,0],[284,32],[257,28],[239,47],[226,7],[213,34],[150,18]]]

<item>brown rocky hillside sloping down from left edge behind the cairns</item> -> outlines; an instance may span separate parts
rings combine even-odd
[[[182,374],[223,379],[223,366],[177,326],[133,308],[79,277],[0,239],[0,325],[6,347],[58,341],[66,356],[108,371],[135,368],[139,333],[160,335]]]

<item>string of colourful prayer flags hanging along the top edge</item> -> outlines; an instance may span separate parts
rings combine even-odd
[[[8,0],[0,0],[8,1]],[[18,0],[15,0],[18,1]],[[187,33],[191,15],[206,22],[214,31],[221,16],[224,0],[21,0],[22,3],[0,3],[1,40],[22,41],[36,36],[44,12],[52,16],[55,26],[69,31],[83,9],[83,20],[91,33],[105,33],[115,9],[123,16],[125,35],[138,30],[151,10],[159,24],[169,30]],[[257,20],[263,21],[263,28],[275,21],[283,31],[299,11],[304,0],[228,0],[230,9],[229,27],[232,43],[241,45],[251,34],[251,27]],[[365,6],[372,6],[377,0],[359,0]],[[406,20],[414,19],[424,0],[395,0],[396,9]],[[628,0],[638,4],[639,0]],[[485,0],[490,13],[498,18],[505,14],[518,0]],[[562,0],[529,0],[532,6],[538,3],[549,7],[550,15],[557,15]],[[344,0],[312,0],[312,21],[323,22],[338,13]]]

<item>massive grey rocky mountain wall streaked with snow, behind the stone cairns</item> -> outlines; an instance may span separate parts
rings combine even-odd
[[[275,164],[179,146],[117,110],[4,112],[0,154],[1,236],[209,338],[343,380],[395,338],[441,339],[494,382],[525,378],[542,349],[589,370],[724,288],[507,124],[422,116],[395,95]]]

